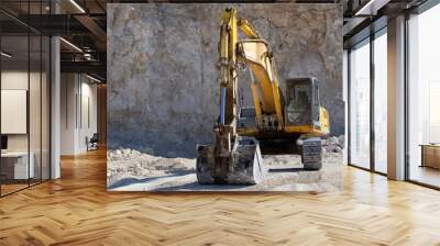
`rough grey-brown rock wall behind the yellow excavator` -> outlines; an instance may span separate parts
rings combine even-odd
[[[108,4],[108,144],[190,157],[210,143],[218,115],[220,15],[232,4]],[[331,133],[344,132],[342,5],[233,4],[271,44],[283,81],[315,76],[330,112]],[[239,75],[250,105],[249,71]]]

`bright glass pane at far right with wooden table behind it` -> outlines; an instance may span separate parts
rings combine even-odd
[[[440,5],[409,20],[409,179],[440,187]]]

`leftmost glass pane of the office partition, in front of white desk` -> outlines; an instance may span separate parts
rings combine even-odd
[[[29,37],[1,37],[1,181],[2,195],[28,187]],[[7,55],[4,55],[7,54]],[[32,161],[31,161],[32,164]]]

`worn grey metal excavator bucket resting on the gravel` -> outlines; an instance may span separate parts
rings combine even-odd
[[[239,136],[228,157],[216,156],[212,145],[199,145],[197,150],[197,180],[200,185],[256,185],[264,180],[263,159],[254,137]]]

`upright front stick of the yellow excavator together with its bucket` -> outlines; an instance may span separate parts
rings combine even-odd
[[[219,42],[220,116],[213,127],[215,145],[197,147],[199,183],[249,185],[257,183],[264,177],[258,142],[254,137],[237,135],[238,67],[242,60],[237,51],[239,29],[249,38],[260,40],[253,26],[237,16],[237,9],[227,9],[221,16]]]

